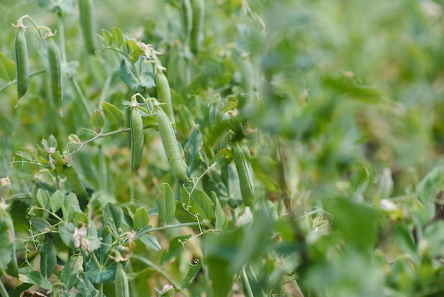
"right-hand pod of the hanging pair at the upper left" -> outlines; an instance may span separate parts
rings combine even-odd
[[[50,72],[50,94],[55,107],[62,113],[62,71],[60,69],[60,54],[57,45],[48,38],[48,66]]]

